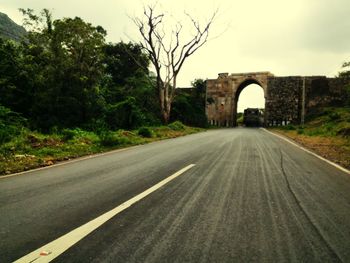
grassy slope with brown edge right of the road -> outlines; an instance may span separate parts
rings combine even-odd
[[[350,169],[350,108],[325,108],[304,126],[288,125],[271,130]]]

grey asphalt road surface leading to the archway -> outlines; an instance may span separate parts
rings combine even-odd
[[[261,129],[223,129],[0,179],[12,262],[195,166],[54,262],[350,262],[350,175]]]

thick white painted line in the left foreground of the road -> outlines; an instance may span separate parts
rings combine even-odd
[[[78,241],[86,237],[88,234],[90,234],[92,231],[103,225],[105,222],[107,222],[109,219],[114,217],[115,215],[119,214],[123,210],[127,209],[131,205],[135,204],[136,202],[140,201],[141,199],[145,198],[149,194],[153,193],[163,185],[169,183],[170,181],[174,180],[176,177],[180,176],[187,170],[191,169],[195,164],[190,164],[186,166],[185,168],[182,168],[181,170],[177,171],[173,175],[165,178],[164,180],[160,181],[156,185],[152,186],[151,188],[148,188],[144,192],[134,196],[133,198],[129,199],[128,201],[122,203],[121,205],[117,206],[116,208],[106,212],[105,214],[91,220],[90,222],[72,230],[71,232],[59,237],[58,239],[36,249],[35,251],[29,253],[28,255],[16,260],[15,262],[50,262],[54,258],[58,257],[60,254],[62,254],[64,251],[66,251],[68,248],[76,244]]]

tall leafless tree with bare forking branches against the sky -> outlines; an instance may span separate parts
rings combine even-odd
[[[185,60],[207,42],[209,29],[217,11],[204,25],[186,13],[192,25],[193,34],[183,43],[180,39],[183,24],[177,22],[175,28],[171,28],[167,35],[163,21],[165,15],[156,14],[155,6],[144,7],[143,11],[144,16],[133,18],[133,21],[142,36],[140,44],[147,51],[155,68],[161,115],[163,122],[168,123],[179,72]]]

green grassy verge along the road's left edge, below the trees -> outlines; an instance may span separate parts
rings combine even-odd
[[[188,127],[181,122],[133,131],[103,131],[99,134],[81,129],[65,129],[54,134],[23,130],[20,135],[0,145],[0,175],[200,131],[203,129]]]

